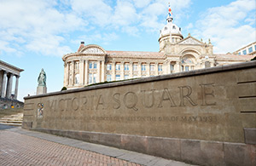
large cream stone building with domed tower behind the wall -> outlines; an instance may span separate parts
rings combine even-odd
[[[77,52],[62,57],[64,87],[81,88],[91,83],[187,72],[252,59],[247,55],[213,54],[210,39],[205,43],[190,34],[183,37],[170,10],[166,20],[166,26],[160,30],[159,52],[110,51],[81,42]]]

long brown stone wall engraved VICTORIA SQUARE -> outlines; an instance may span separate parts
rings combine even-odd
[[[23,128],[201,165],[256,163],[256,62],[25,98]]]

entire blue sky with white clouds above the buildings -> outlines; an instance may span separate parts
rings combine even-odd
[[[42,68],[48,92],[61,90],[61,57],[81,41],[106,50],[159,51],[168,3],[183,37],[211,38],[215,54],[256,41],[255,0],[0,0],[0,60],[25,70],[18,99],[36,93]]]

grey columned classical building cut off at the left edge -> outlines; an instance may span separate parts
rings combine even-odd
[[[17,100],[19,89],[20,72],[24,71],[16,66],[12,66],[0,60],[0,92],[1,92],[1,106],[7,100]],[[14,82],[15,77],[15,84]],[[15,93],[12,94],[13,86],[15,86]]]

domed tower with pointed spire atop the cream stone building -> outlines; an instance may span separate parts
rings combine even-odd
[[[160,30],[160,52],[169,52],[166,49],[166,46],[171,46],[183,39],[181,28],[172,23],[172,9],[169,4],[167,24]]]

